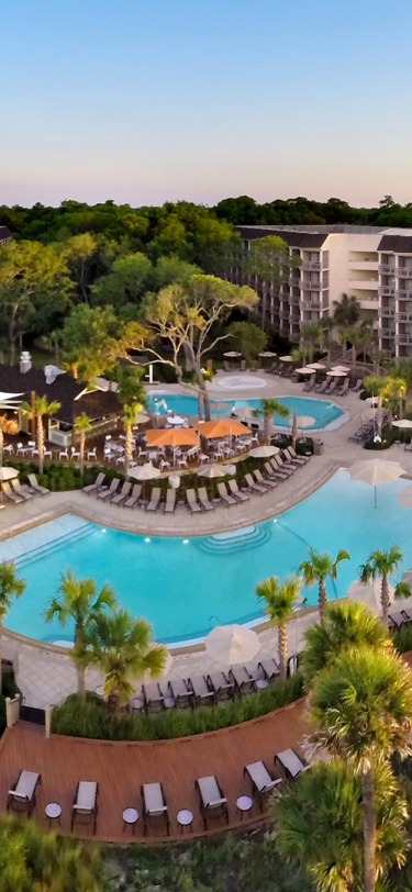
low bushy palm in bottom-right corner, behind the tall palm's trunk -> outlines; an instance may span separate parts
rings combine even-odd
[[[388,766],[375,773],[377,872],[405,862],[408,807]],[[363,888],[361,779],[341,759],[316,762],[274,800],[276,846],[319,892]]]

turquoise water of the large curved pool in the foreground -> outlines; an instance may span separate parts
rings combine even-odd
[[[412,513],[396,497],[407,486],[405,480],[380,486],[374,509],[372,488],[352,482],[341,470],[290,511],[223,537],[136,536],[65,515],[0,543],[0,560],[15,559],[27,580],[5,625],[36,638],[69,639],[71,629],[46,625],[42,612],[56,593],[59,573],[71,567],[98,586],[111,582],[123,606],[152,623],[158,640],[201,637],[220,623],[259,617],[256,583],[293,572],[309,545],[332,555],[338,548],[350,553],[352,560],[329,587],[330,598],[342,596],[374,548],[398,545],[405,553],[404,569],[412,566]],[[315,588],[304,594],[315,603]]]

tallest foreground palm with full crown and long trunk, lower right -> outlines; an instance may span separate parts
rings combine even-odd
[[[364,892],[374,892],[378,874],[377,770],[393,752],[411,752],[411,671],[391,650],[348,648],[315,676],[310,721],[312,740],[338,755],[361,779],[364,814]],[[389,767],[389,765],[388,765]]]

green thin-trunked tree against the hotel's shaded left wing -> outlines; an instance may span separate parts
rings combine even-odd
[[[254,238],[244,260],[244,271],[248,276],[263,279],[261,327],[266,325],[267,283],[277,288],[288,281],[291,269],[301,265],[300,257],[289,254],[289,247],[278,235]]]

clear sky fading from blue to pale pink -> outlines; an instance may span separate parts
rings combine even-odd
[[[0,0],[0,204],[412,201],[411,0]]]

